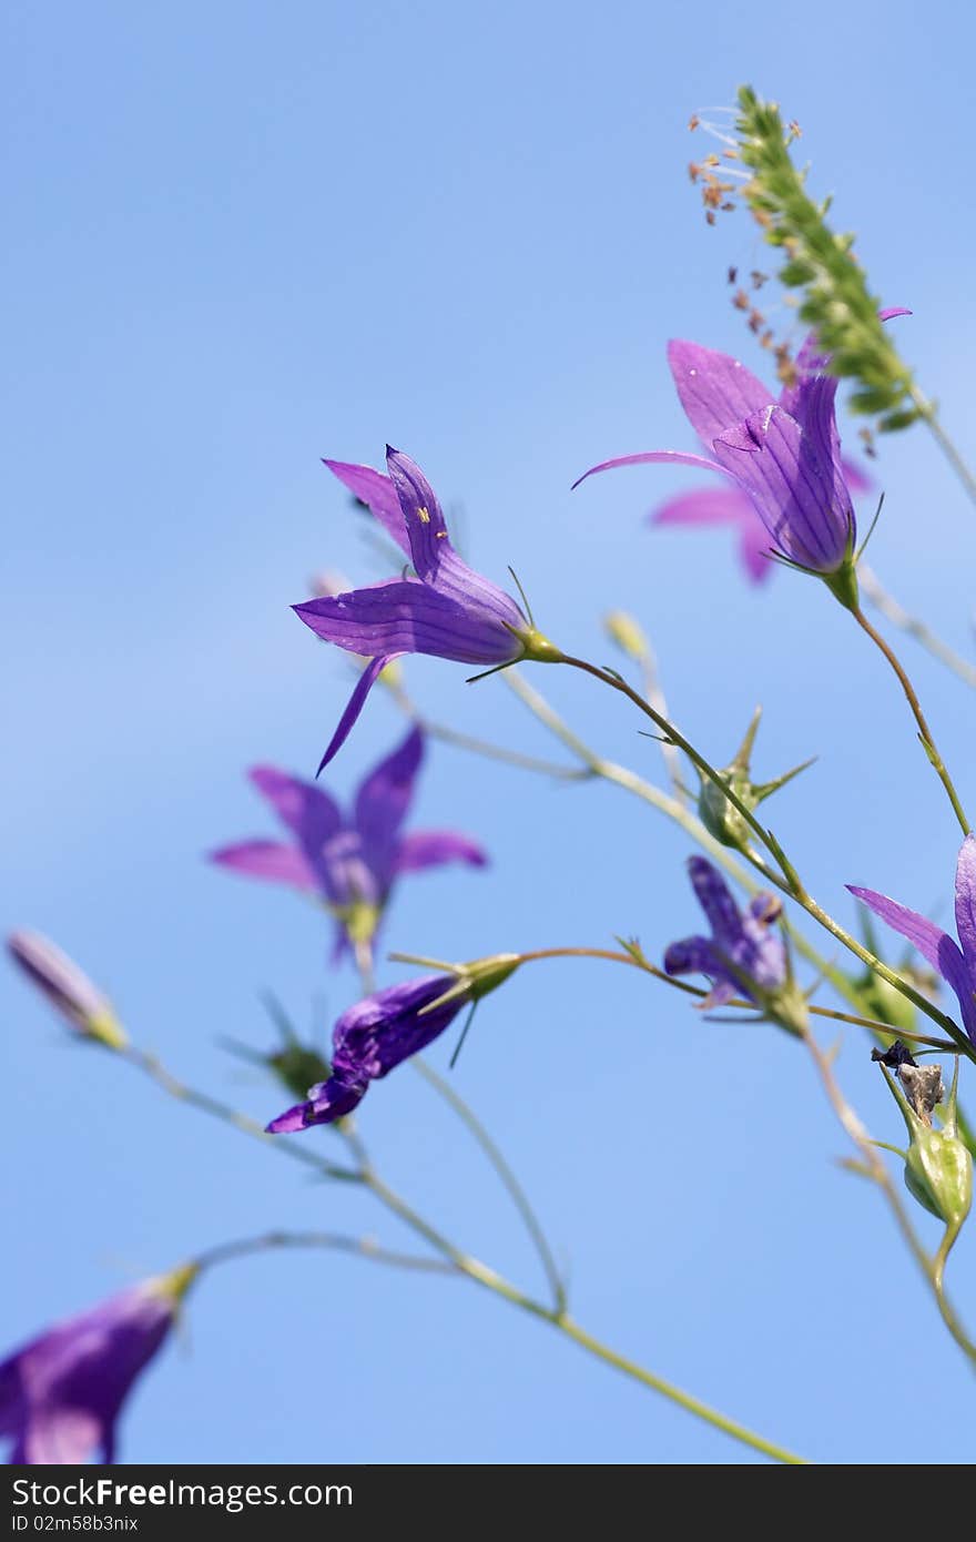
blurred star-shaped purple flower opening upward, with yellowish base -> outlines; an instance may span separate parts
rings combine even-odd
[[[211,853],[211,860],[250,877],[290,884],[324,899],[336,916],[336,953],[376,933],[396,879],[446,862],[484,867],[484,850],[452,830],[401,827],[424,757],[424,737],[412,728],[404,742],[359,783],[352,813],[310,782],[254,766],[250,773],[291,833],[290,842],[245,840]]]

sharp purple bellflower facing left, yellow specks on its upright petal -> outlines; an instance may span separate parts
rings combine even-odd
[[[435,492],[409,456],[387,447],[389,476],[344,461],[325,466],[369,506],[413,572],[294,606],[316,637],[370,660],[319,771],[345,742],[384,668],[401,654],[432,654],[483,668],[558,658],[515,600],[458,557]]]

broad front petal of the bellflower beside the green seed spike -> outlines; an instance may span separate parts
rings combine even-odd
[[[765,407],[715,441],[715,456],[756,506],[779,550],[814,572],[836,572],[854,537],[850,497],[796,418]]]

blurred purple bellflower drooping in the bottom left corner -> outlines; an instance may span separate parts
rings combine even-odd
[[[0,1365],[0,1439],[9,1460],[77,1465],[116,1459],[116,1422],[136,1377],[163,1343],[196,1277],[188,1264],[130,1291],[14,1351]]]

